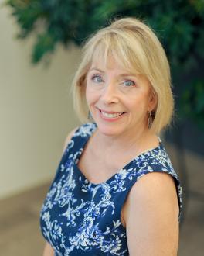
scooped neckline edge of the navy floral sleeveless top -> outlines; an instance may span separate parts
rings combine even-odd
[[[93,182],[90,182],[85,175],[83,175],[83,172],[80,170],[80,168],[77,165],[78,162],[80,161],[81,155],[83,154],[84,147],[86,146],[86,144],[87,144],[88,140],[90,139],[90,137],[93,136],[93,133],[97,130],[97,123],[90,123],[90,124],[93,124],[93,126],[95,126],[95,127],[91,131],[90,135],[88,135],[86,137],[86,139],[83,141],[83,144],[80,147],[80,152],[77,155],[76,160],[74,161],[74,164],[73,164],[73,168],[75,168],[75,170],[78,171],[80,177],[83,178],[83,180],[86,183],[86,185],[90,185],[90,186],[95,187],[95,186],[104,185],[105,183],[109,183],[109,182],[111,182],[116,177],[116,175],[119,175],[121,173],[121,171],[123,171],[124,169],[128,168],[128,166],[130,164],[132,164],[133,161],[137,160],[138,158],[140,158],[140,157],[142,157],[142,156],[144,156],[146,154],[149,154],[153,150],[159,150],[162,147],[162,140],[158,136],[158,146],[157,147],[152,147],[152,148],[150,148],[148,150],[145,150],[145,151],[141,152],[141,154],[138,154],[136,157],[133,157],[131,159],[131,161],[128,162],[128,164],[125,164],[123,168],[120,168],[114,175],[110,176],[110,178],[107,178],[106,181],[100,182],[100,183],[93,183]]]

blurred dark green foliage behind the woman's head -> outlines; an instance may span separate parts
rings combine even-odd
[[[6,0],[5,5],[11,7],[19,24],[18,38],[36,35],[34,64],[53,53],[57,44],[68,47],[73,42],[81,46],[110,19],[125,16],[141,18],[155,30],[165,47],[173,77],[203,62],[203,0]],[[203,85],[200,81],[183,89],[180,111],[183,116],[193,116],[199,124],[204,119]],[[190,110],[192,102],[196,111]]]

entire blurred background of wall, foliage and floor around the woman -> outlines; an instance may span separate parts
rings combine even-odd
[[[179,256],[204,250],[204,1],[13,0],[0,7],[0,254],[41,255],[39,210],[67,134],[70,83],[87,36],[132,16],[155,30],[172,70],[176,118],[162,141],[182,182]]]

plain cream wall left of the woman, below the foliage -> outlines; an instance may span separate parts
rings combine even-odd
[[[33,37],[0,9],[0,199],[40,185],[56,172],[67,133],[77,126],[69,95],[80,50],[58,47],[51,65],[32,66]]]

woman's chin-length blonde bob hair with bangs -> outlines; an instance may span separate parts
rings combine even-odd
[[[73,109],[80,121],[89,121],[85,90],[92,61],[97,58],[107,64],[110,56],[125,69],[148,78],[156,100],[151,130],[160,133],[170,126],[174,99],[165,50],[150,27],[131,17],[110,21],[110,26],[93,33],[83,45],[82,61],[71,86]]]

